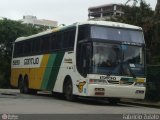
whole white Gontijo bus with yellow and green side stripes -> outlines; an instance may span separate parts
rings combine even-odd
[[[76,96],[144,99],[145,41],[142,28],[87,21],[17,38],[11,85],[21,93],[47,90]]]

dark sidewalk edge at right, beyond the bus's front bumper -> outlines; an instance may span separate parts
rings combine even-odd
[[[121,103],[139,105],[139,106],[144,106],[144,107],[160,108],[160,101],[153,102],[153,101],[148,101],[148,100],[121,99]]]

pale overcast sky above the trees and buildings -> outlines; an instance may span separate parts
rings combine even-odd
[[[88,19],[88,8],[103,4],[126,3],[127,0],[0,0],[0,17],[12,20],[33,15],[37,19],[72,24]],[[157,0],[145,0],[154,10]],[[132,2],[130,2],[132,4]]]

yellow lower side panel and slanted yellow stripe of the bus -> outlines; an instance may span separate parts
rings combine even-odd
[[[40,68],[12,68],[11,85],[18,87],[18,78],[22,74],[23,78],[25,75],[28,75],[29,88],[40,89],[48,58],[49,54],[43,56]]]

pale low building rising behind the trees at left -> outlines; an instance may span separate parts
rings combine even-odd
[[[23,23],[26,23],[26,24],[33,24],[37,27],[38,26],[45,26],[45,27],[48,27],[48,28],[54,28],[54,27],[58,26],[57,21],[37,19],[36,16],[31,16],[31,15],[23,16],[23,19],[21,19],[20,21],[22,21]]]

